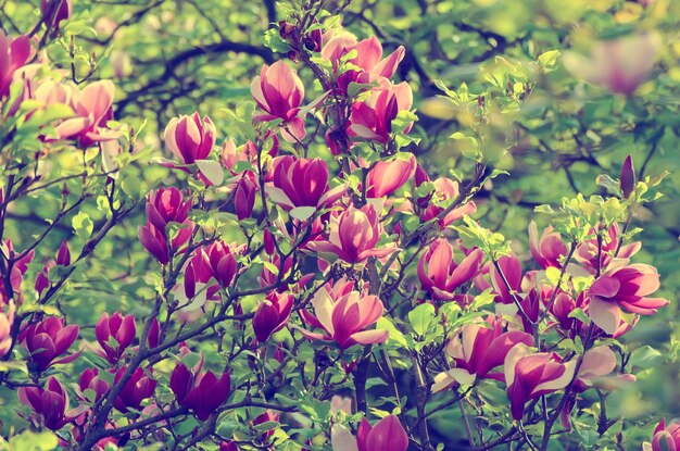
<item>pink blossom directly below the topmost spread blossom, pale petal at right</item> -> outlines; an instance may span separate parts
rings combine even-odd
[[[368,100],[352,104],[348,135],[385,145],[393,131],[392,121],[400,111],[411,110],[412,104],[413,92],[406,82],[388,89],[374,89]],[[404,133],[410,129],[411,125]]]

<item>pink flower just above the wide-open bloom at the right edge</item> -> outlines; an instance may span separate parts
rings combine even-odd
[[[596,233],[597,230],[591,230],[591,234]],[[619,237],[619,226],[614,223],[602,238],[602,249],[599,248],[597,239],[592,238],[583,241],[576,248],[574,258],[591,274],[597,274],[597,255],[600,255],[601,273],[605,272],[612,263],[628,261],[628,259],[638,253],[642,243],[634,241],[624,245],[619,249],[619,242],[622,239]],[[615,254],[617,249],[618,253]]]

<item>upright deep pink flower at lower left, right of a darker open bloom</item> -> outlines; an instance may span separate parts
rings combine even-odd
[[[135,316],[131,314],[123,316],[118,312],[109,316],[109,313],[104,312],[95,326],[95,336],[102,349],[98,354],[111,363],[116,363],[137,336]]]

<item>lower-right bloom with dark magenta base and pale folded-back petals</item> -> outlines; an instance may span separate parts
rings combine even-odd
[[[505,356],[504,369],[513,418],[521,419],[528,401],[562,390],[571,381],[576,361],[563,363],[557,354],[531,353],[519,343]]]

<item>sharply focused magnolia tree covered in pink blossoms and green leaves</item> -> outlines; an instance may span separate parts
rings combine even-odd
[[[288,53],[228,112],[242,136],[181,115],[148,162],[115,121],[114,84],[46,54],[70,9],[43,1],[27,35],[0,34],[0,385],[25,421],[5,448],[456,449],[432,435],[446,413],[466,449],[620,444],[607,399],[635,375],[619,340],[668,303],[635,263],[635,213],[662,178],[638,179],[635,155],[599,178],[607,195],[537,208],[550,225],[531,223],[520,258],[471,218],[501,175],[481,152],[473,172],[435,178],[408,151],[413,92],[393,80],[405,49],[358,40],[312,1],[267,35]],[[141,160],[172,183],[144,197],[126,176]],[[61,206],[18,249],[5,227],[41,197]],[[154,262],[144,313],[75,323],[62,287],[137,205]],[[46,249],[65,221],[73,239]],[[680,449],[680,424],[647,441]]]

